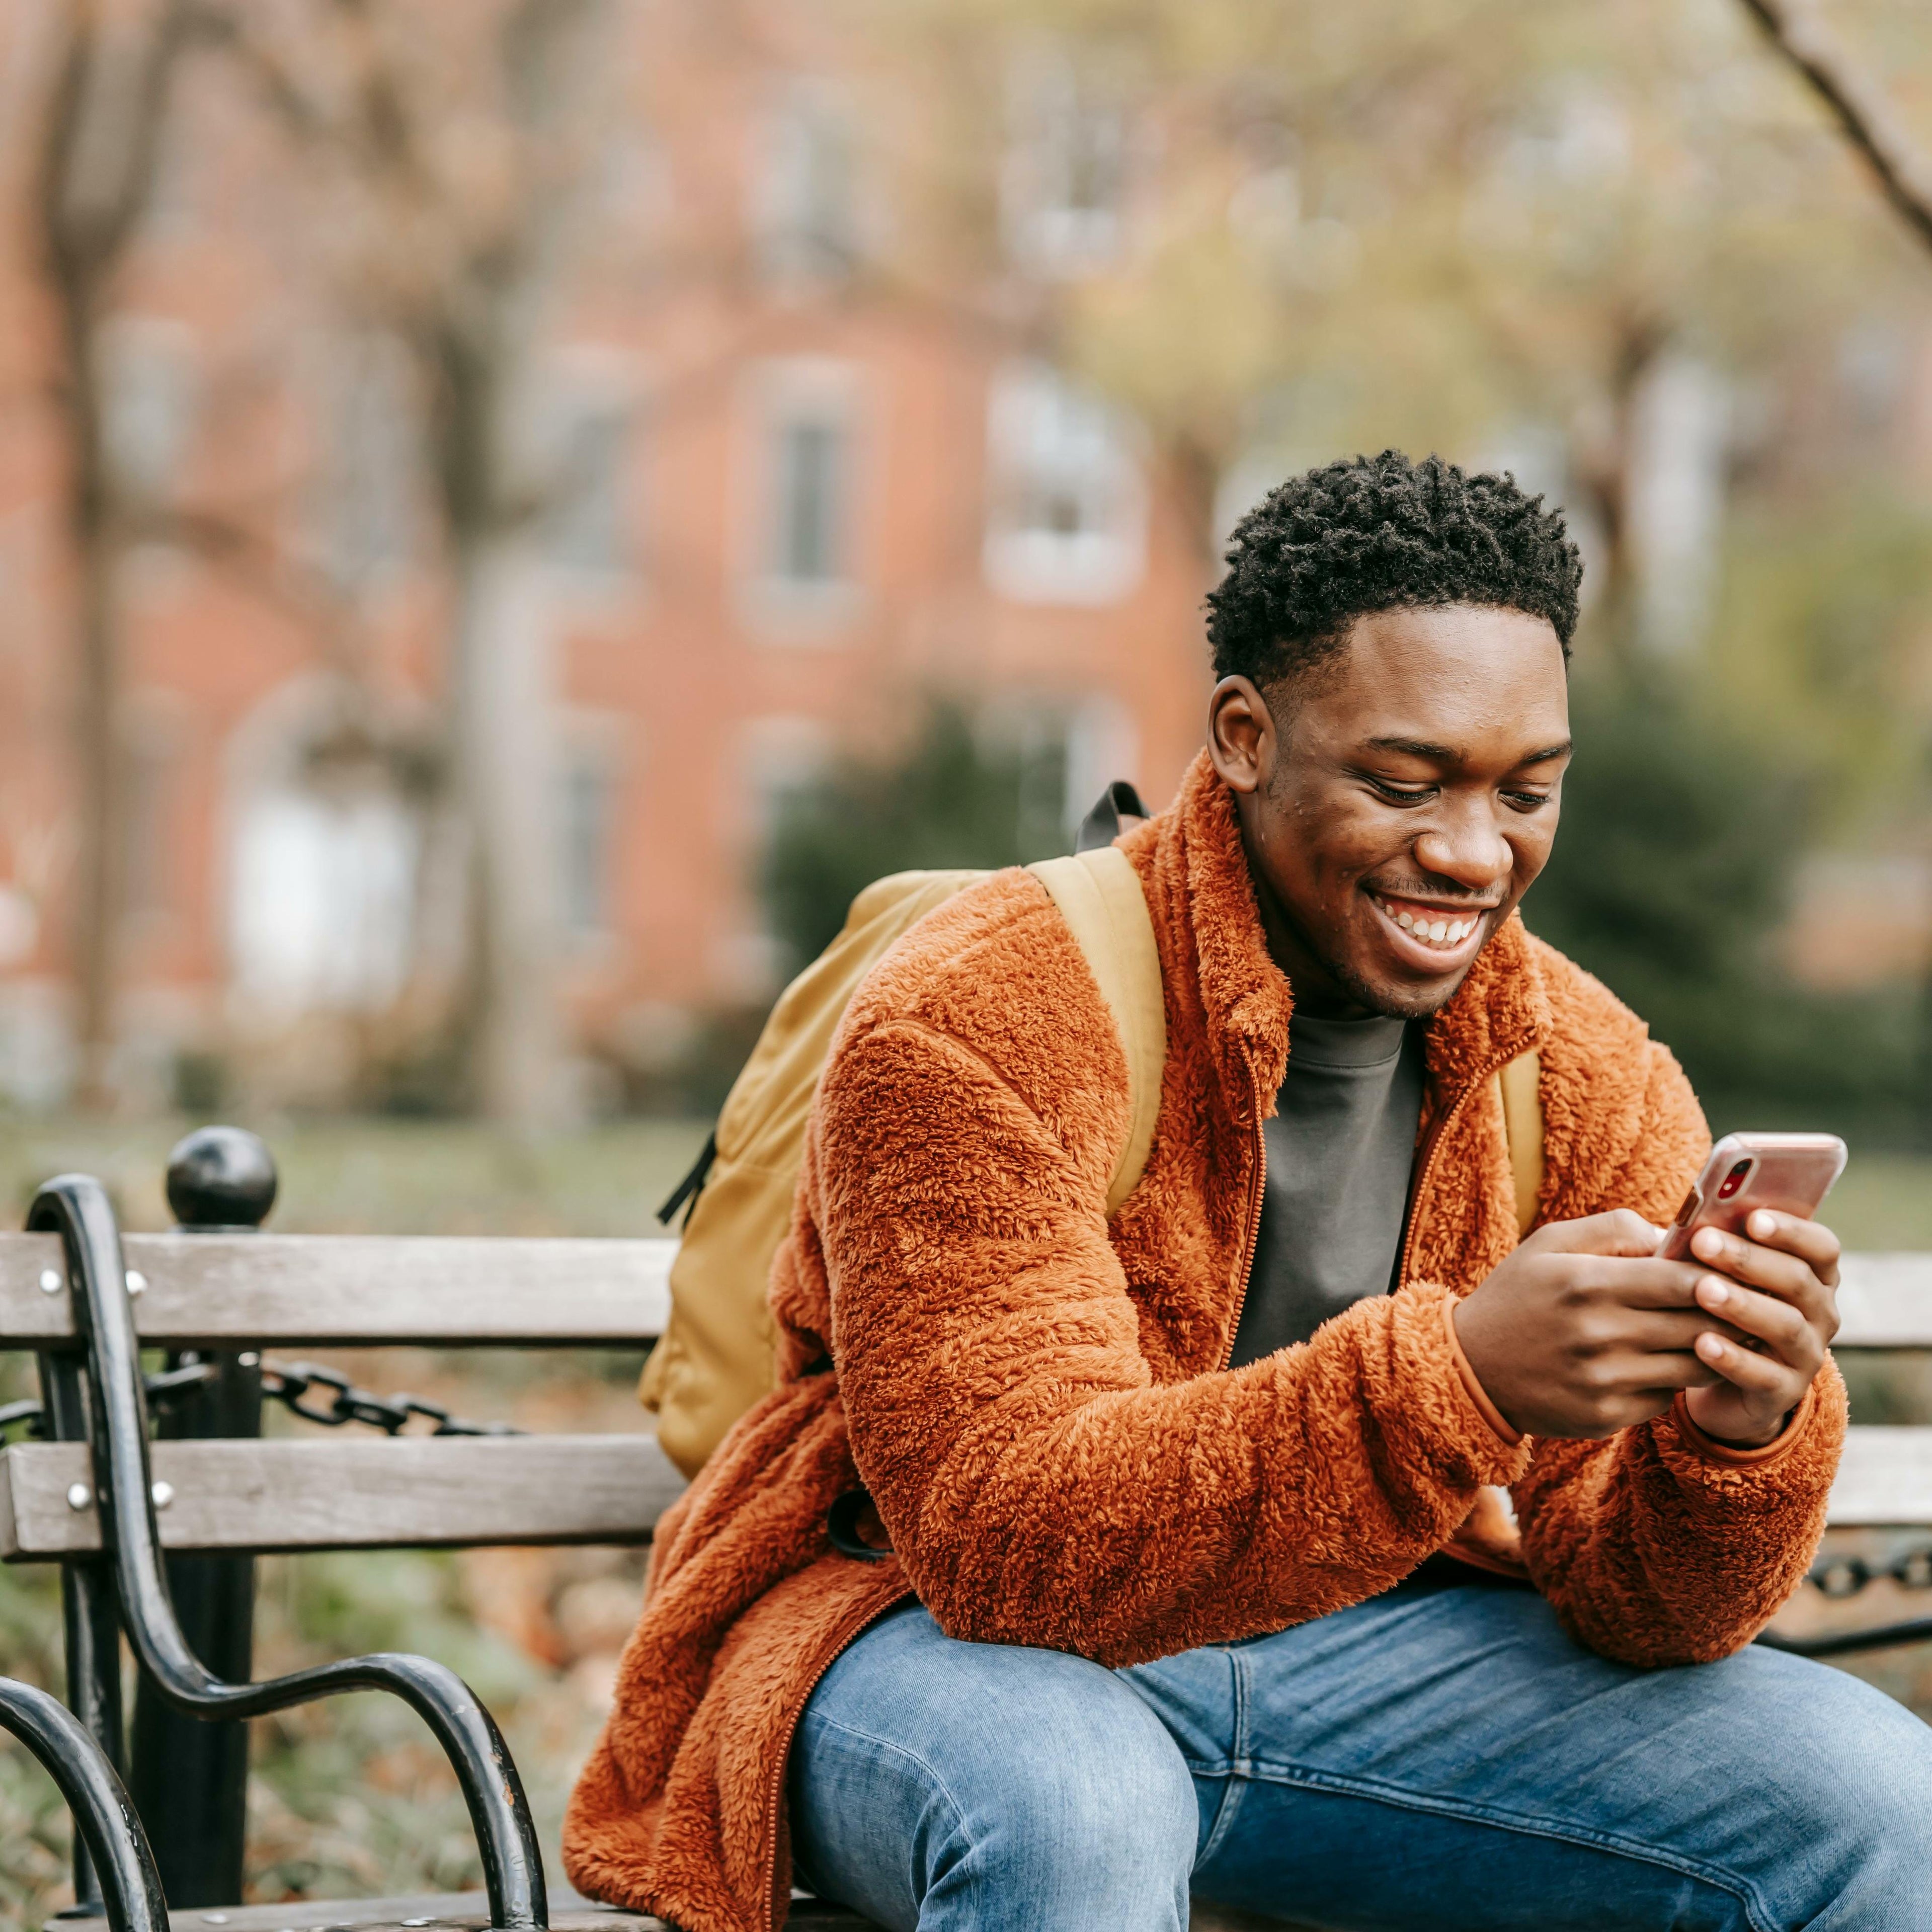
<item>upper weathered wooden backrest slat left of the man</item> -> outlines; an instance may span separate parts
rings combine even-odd
[[[641,1347],[670,1314],[674,1240],[128,1235],[156,1347]],[[73,1339],[54,1235],[0,1235],[0,1349]]]

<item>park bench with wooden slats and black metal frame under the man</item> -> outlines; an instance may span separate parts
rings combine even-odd
[[[234,1718],[350,1687],[346,1677],[327,1681],[325,1669],[305,1673],[301,1685],[284,1681],[294,1692],[267,1702],[261,1696],[261,1696],[234,1689],[249,1681],[247,1605],[259,1551],[641,1544],[684,1480],[641,1428],[630,1435],[261,1441],[263,1350],[402,1343],[641,1350],[668,1314],[676,1244],[257,1233],[272,1194],[272,1167],[259,1142],[205,1130],[176,1150],[170,1167],[180,1231],[118,1236],[99,1186],[66,1177],[35,1204],[37,1231],[0,1235],[0,1349],[39,1354],[56,1437],[15,1441],[0,1453],[0,1559],[64,1565],[70,1704],[108,1760],[131,1774],[176,1928],[487,1926],[491,1901],[481,1893],[226,1903],[242,1889],[245,1725],[185,1714],[182,1696],[195,1692],[191,1679],[201,1665],[205,1683],[195,1694],[203,1694],[203,1708],[228,1698],[222,1708]],[[1932,1347],[1932,1256],[1849,1258],[1841,1308],[1843,1349]],[[139,1349],[166,1350],[176,1381],[191,1383],[189,1401],[164,1418],[153,1443],[139,1420]],[[108,1441],[116,1405],[124,1424],[118,1447]],[[112,1534],[104,1534],[104,1517],[116,1524]],[[1853,1430],[1832,1520],[1932,1524],[1932,1430]],[[166,1575],[174,1607],[156,1602],[143,1561]],[[118,1667],[108,1665],[110,1658],[118,1665],[116,1623],[137,1660],[151,1665],[137,1694],[131,1752]],[[1886,1634],[1932,1634],[1932,1621]],[[184,1646],[187,1663],[170,1662],[170,1642]],[[1828,1654],[1833,1640],[1793,1648]],[[174,1704],[156,1689],[168,1671]],[[412,1690],[412,1683],[402,1683],[402,1694],[431,1714],[444,1692],[421,1683]],[[444,1733],[452,1725],[446,1718]],[[487,1714],[481,1725],[477,1748],[500,1748],[500,1739],[487,1743],[495,1735]],[[442,1741],[456,1762],[462,1741]],[[541,1922],[529,1874],[504,1876],[520,1857],[527,1862],[535,1855],[527,1808],[522,1822],[504,1812],[491,1824],[471,1797],[471,1816],[479,1837],[495,1830],[506,1841],[495,1853],[485,1845],[500,1922]],[[508,1843],[518,1832],[527,1839],[522,1853]],[[539,1862],[539,1901],[541,1886]],[[77,1857],[77,1888],[83,1899],[99,1895],[85,1853]],[[549,1922],[655,1924],[554,1893]],[[792,1922],[864,1926],[852,1913],[815,1901],[800,1903]],[[1242,1920],[1204,1911],[1196,1922]]]

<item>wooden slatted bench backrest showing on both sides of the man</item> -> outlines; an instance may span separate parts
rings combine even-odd
[[[168,1349],[641,1349],[663,1333],[674,1252],[672,1240],[124,1236],[141,1339]],[[1932,1347],[1932,1254],[1847,1256],[1839,1306],[1841,1349]],[[0,1235],[0,1350],[73,1341],[58,1238]],[[156,1441],[153,1472],[172,1549],[645,1542],[684,1488],[641,1426]],[[1932,1522],[1932,1430],[1853,1430],[1832,1520]],[[99,1548],[85,1443],[6,1449],[0,1559]]]

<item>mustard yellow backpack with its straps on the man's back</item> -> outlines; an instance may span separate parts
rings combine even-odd
[[[1113,788],[1109,798],[1119,810],[1146,815],[1128,786]],[[1088,827],[1105,829],[1105,806],[1101,800]],[[1119,825],[1117,815],[1113,825]],[[1088,827],[1082,827],[1082,842]],[[1130,1121],[1107,1188],[1107,1211],[1113,1213],[1148,1165],[1167,1063],[1153,923],[1138,873],[1111,844],[1041,860],[1030,871],[1086,954],[1126,1053]],[[686,1476],[696,1476],[726,1430],[777,1387],[777,1335],[765,1285],[792,1223],[806,1119],[846,1003],[900,933],[985,877],[983,871],[900,871],[867,885],[852,900],[844,929],[771,1009],[752,1059],[724,1097],[705,1153],[665,1202],[661,1217],[667,1223],[688,1200],[692,1209],[670,1267],[670,1320],[643,1366],[638,1399],[657,1416],[659,1447]],[[1536,1055],[1513,1061],[1501,1080],[1517,1219],[1528,1229],[1544,1151]]]

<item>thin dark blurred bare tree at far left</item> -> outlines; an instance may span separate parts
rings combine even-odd
[[[56,0],[52,87],[33,184],[62,365],[66,522],[75,551],[75,765],[79,773],[73,951],[81,1099],[102,1103],[114,1045],[116,947],[124,902],[126,775],[120,748],[116,564],[126,502],[108,446],[104,323],[155,184],[156,158],[195,15],[160,0],[145,21],[108,25],[99,0]]]

